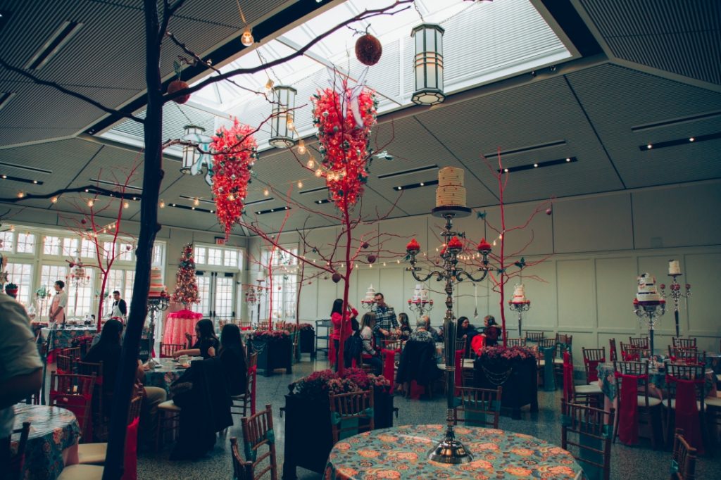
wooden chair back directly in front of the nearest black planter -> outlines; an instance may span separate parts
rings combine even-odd
[[[334,444],[341,438],[368,432],[375,427],[372,413],[373,388],[348,394],[329,394],[328,398]],[[368,413],[368,409],[371,413]]]

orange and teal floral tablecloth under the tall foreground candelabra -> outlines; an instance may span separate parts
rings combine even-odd
[[[572,455],[530,435],[479,427],[456,427],[456,438],[473,461],[448,465],[426,455],[445,432],[443,425],[404,425],[340,440],[328,458],[324,479],[575,479]]]

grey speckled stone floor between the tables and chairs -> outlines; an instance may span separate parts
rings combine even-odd
[[[286,375],[285,370],[266,378],[258,377],[257,405],[273,405],[273,421],[275,422],[275,439],[278,445],[279,476],[283,465],[283,439],[285,437],[283,419],[280,418],[280,407],[284,404],[283,395],[288,391],[288,383],[308,375],[313,370],[327,368],[325,361],[312,363],[304,355],[304,361],[293,366],[293,374]],[[282,372],[282,373],[281,373]],[[513,432],[534,435],[543,440],[560,445],[561,427],[559,423],[558,405],[560,393],[539,393],[539,412],[531,414],[523,412],[521,420],[501,417],[500,428]],[[441,396],[433,400],[411,401],[397,397],[395,405],[399,407],[399,418],[395,425],[442,423],[445,417],[445,399]],[[141,480],[182,479],[208,480],[229,479],[232,477],[230,457],[231,436],[241,438],[239,425],[229,429],[225,440],[218,440],[212,454],[203,460],[169,461],[170,448],[159,453],[141,454],[138,459],[138,478]],[[619,443],[613,445],[611,458],[611,479],[659,480],[668,479],[668,466],[671,463],[670,450],[652,450],[650,444],[629,448]],[[713,472],[716,472],[715,474]],[[321,476],[303,468],[298,468],[299,479],[320,479]],[[721,459],[705,455],[697,462],[696,479],[712,480],[721,478]],[[421,479],[418,479],[421,480]]]

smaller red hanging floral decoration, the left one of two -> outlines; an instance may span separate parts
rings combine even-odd
[[[235,119],[231,128],[219,128],[211,142],[216,216],[225,227],[226,239],[243,215],[251,169],[258,157],[252,131],[251,127]]]

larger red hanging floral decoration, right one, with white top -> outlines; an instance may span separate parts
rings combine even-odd
[[[335,74],[333,88],[314,95],[313,123],[318,129],[323,176],[333,203],[345,211],[363,195],[368,179],[368,148],[371,128],[376,125],[376,98],[358,81],[348,86],[348,79]]]

